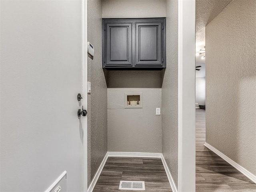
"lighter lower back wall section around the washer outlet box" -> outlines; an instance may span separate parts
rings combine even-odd
[[[143,108],[124,108],[124,93],[142,92]],[[161,88],[108,88],[108,151],[161,150]]]

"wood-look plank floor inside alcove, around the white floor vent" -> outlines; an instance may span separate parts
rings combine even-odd
[[[93,192],[118,190],[120,180],[145,181],[146,192],[172,192],[160,158],[108,158]]]

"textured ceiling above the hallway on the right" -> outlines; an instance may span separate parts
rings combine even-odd
[[[205,26],[230,2],[232,0],[196,0],[196,52],[200,52],[200,49],[205,50]],[[200,71],[196,71],[196,77],[205,77],[205,59],[202,60],[204,55],[207,55],[207,52],[196,56],[196,66],[202,66]]]

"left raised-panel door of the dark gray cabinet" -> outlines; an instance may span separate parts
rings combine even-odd
[[[106,24],[105,66],[132,66],[132,24]]]

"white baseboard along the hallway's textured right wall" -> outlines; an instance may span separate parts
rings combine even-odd
[[[248,170],[246,170],[245,168],[240,166],[238,163],[234,162],[232,159],[230,159],[229,157],[224,155],[222,152],[220,152],[219,150],[217,150],[210,144],[205,142],[204,146],[206,146],[208,149],[212,150],[212,152],[214,152],[215,154],[220,156],[222,159],[224,159],[226,162],[228,162],[230,165],[232,165],[234,168],[236,168],[238,171],[240,171],[242,174],[244,174],[244,176],[246,176],[250,180],[252,180],[252,182],[256,183],[256,176],[254,174],[252,174],[251,172],[249,172]]]

